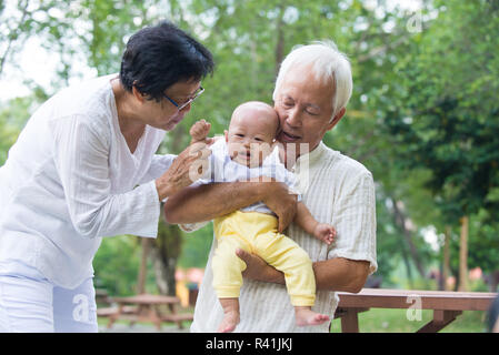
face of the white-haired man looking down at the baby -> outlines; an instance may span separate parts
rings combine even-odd
[[[333,85],[315,80],[308,67],[288,71],[275,102],[281,128],[277,140],[287,151],[290,143],[296,144],[297,158],[306,153],[300,152],[300,143],[307,143],[308,151],[312,151],[335,126],[338,120],[330,122],[333,93]]]

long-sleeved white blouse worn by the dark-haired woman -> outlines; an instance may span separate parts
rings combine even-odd
[[[164,131],[147,125],[130,152],[110,80],[68,88],[28,121],[0,168],[0,262],[20,260],[72,288],[93,275],[102,236],[156,237],[154,179],[176,155],[154,155]]]

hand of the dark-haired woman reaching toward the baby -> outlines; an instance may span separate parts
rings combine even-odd
[[[203,142],[189,145],[173,161],[170,169],[156,180],[159,200],[173,195],[189,186],[208,169],[211,150]]]

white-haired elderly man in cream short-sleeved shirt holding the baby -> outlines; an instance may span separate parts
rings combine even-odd
[[[317,298],[313,310],[332,318],[336,291],[359,292],[377,270],[376,202],[371,173],[359,162],[322,143],[326,132],[343,118],[352,91],[350,64],[332,42],[293,49],[281,63],[273,92],[280,119],[280,159],[301,180],[302,201],[312,215],[337,230],[332,245],[320,243],[291,223],[286,234],[313,262]],[[166,204],[169,223],[199,227],[257,201],[279,217],[282,231],[296,211],[293,195],[277,182],[236,182],[191,186]],[[190,224],[190,225],[189,225]],[[213,242],[214,244],[216,242]],[[211,256],[199,292],[192,332],[214,332],[223,317],[212,288]],[[298,327],[282,273],[243,251],[247,263],[241,288],[241,323],[236,332],[328,332],[329,325]]]

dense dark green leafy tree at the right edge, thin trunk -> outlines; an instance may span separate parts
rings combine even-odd
[[[397,104],[383,123],[401,166],[431,171],[427,186],[443,220],[456,225],[481,209],[493,213],[498,207],[499,144],[493,138],[499,105],[492,92],[499,62],[491,53],[499,42],[490,33],[499,30],[499,21],[487,1],[436,3],[441,4],[438,18],[396,65]],[[463,274],[466,253],[461,256]]]

